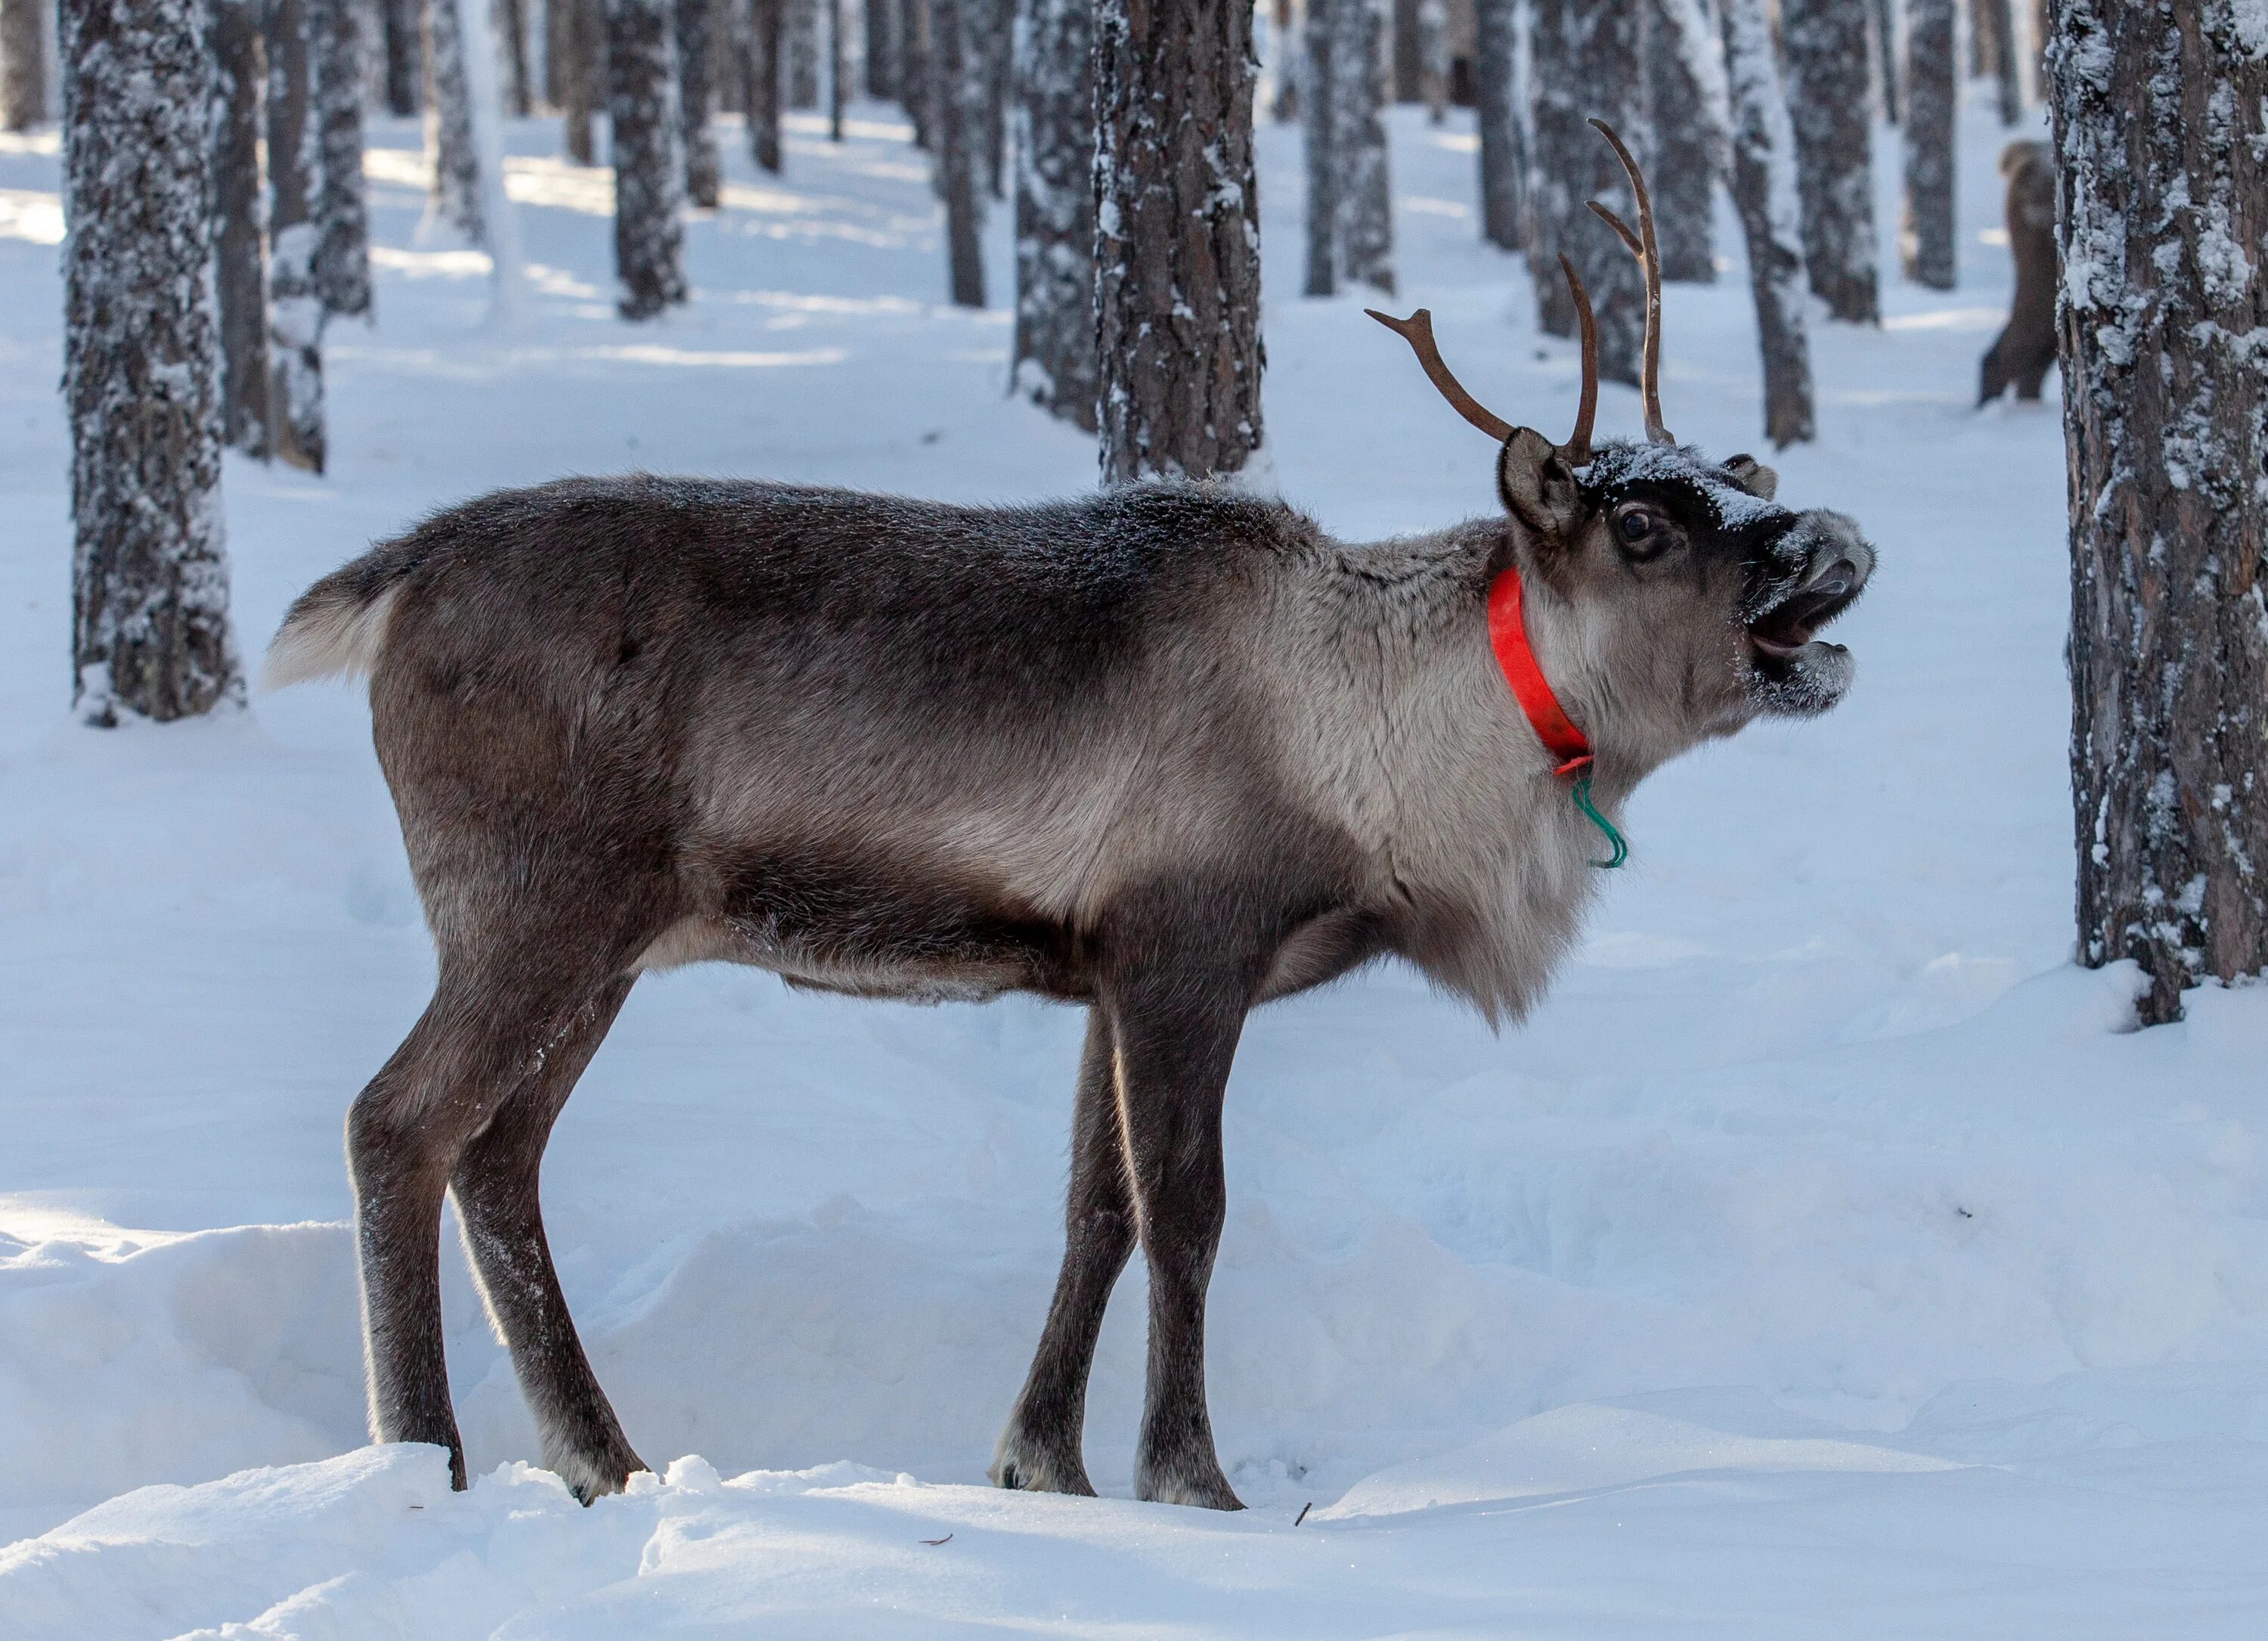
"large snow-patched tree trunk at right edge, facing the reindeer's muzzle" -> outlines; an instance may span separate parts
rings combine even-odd
[[[2143,1024],[2268,971],[2268,34],[2236,0],[2059,0],[2080,960]]]

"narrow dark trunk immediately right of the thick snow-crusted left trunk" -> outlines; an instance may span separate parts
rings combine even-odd
[[[220,313],[220,429],[268,458],[268,209],[261,197],[265,0],[206,0],[213,64],[213,291]]]

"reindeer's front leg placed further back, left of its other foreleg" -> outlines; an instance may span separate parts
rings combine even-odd
[[[1086,1015],[1080,1094],[1070,1119],[1070,1194],[1064,1203],[1064,1269],[1039,1337],[1039,1355],[1016,1398],[991,1480],[1036,1493],[1093,1493],[1080,1455],[1086,1373],[1111,1287],[1134,1253],[1134,1198],[1127,1196],[1125,1142],[1111,1087],[1111,1028],[1102,1008]]]

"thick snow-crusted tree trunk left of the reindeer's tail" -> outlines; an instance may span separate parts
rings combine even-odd
[[[211,64],[197,0],[64,0],[70,699],[238,699],[220,513]]]

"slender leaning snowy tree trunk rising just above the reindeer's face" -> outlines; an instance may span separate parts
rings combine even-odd
[[[1733,118],[1733,204],[1749,243],[1755,336],[1765,356],[1765,438],[1812,436],[1812,350],[1803,329],[1803,209],[1796,136],[1780,98],[1765,0],[1719,0]]]

